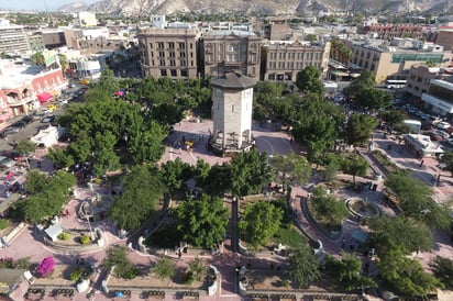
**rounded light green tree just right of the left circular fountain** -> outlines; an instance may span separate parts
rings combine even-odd
[[[119,228],[139,228],[156,212],[164,191],[165,187],[156,170],[148,166],[136,166],[125,180],[124,192],[110,207],[109,216]]]

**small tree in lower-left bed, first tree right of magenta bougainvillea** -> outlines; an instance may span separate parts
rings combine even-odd
[[[112,246],[107,249],[103,264],[107,267],[114,267],[113,272],[124,279],[133,279],[137,276],[139,270],[132,266],[128,258],[128,248],[123,246]]]

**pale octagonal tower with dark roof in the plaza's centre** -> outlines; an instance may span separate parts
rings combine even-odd
[[[253,87],[256,80],[241,73],[225,73],[211,79],[213,132],[210,145],[226,155],[250,149],[252,138]]]

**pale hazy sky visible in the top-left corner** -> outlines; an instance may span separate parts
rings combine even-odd
[[[64,4],[81,1],[91,4],[99,0],[0,0],[0,10],[41,10],[45,11],[47,3],[48,10],[55,10]]]

